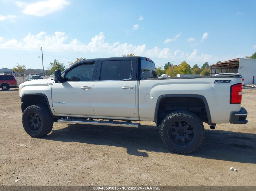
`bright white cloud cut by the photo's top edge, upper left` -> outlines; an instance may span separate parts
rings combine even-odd
[[[47,14],[59,11],[70,4],[67,0],[46,0],[31,4],[27,4],[25,2],[15,3],[18,7],[24,8],[22,11],[24,14],[35,15],[38,17],[43,17]]]

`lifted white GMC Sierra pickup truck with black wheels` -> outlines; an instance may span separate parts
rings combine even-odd
[[[157,78],[154,62],[138,56],[82,60],[56,70],[54,80],[19,86],[22,124],[28,135],[41,137],[54,122],[138,127],[134,122],[154,121],[171,151],[191,153],[204,141],[203,122],[211,129],[248,122],[241,79]]]

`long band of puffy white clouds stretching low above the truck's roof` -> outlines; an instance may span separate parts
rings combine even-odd
[[[128,43],[114,42],[108,43],[105,41],[104,33],[99,33],[89,40],[88,43],[83,43],[78,39],[69,40],[65,32],[55,32],[53,35],[48,35],[42,31],[38,34],[28,35],[22,40],[5,40],[0,37],[0,49],[18,49],[18,50],[38,50],[43,47],[45,51],[52,52],[80,52],[85,55],[93,55],[93,57],[112,57],[121,56],[123,54],[135,53],[136,56],[145,56],[155,59],[160,62],[160,59],[176,58],[178,60],[187,61],[190,65],[196,63],[216,63],[219,60],[229,60],[234,58],[234,55],[227,57],[216,57],[209,54],[198,55],[199,50],[194,49],[192,53],[184,52],[180,49],[172,50],[169,47],[147,48],[146,44],[133,45]],[[96,55],[96,56],[95,56]],[[179,64],[179,63],[177,63]]]

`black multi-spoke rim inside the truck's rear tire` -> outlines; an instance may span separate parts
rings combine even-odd
[[[191,145],[196,137],[194,127],[185,120],[177,120],[168,128],[169,140],[177,146]]]

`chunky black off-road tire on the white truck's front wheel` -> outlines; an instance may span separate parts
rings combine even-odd
[[[37,131],[31,130],[32,127],[31,124],[29,124],[29,117],[33,113],[36,113],[36,116],[40,119],[40,128]],[[49,109],[44,105],[31,105],[28,106],[22,114],[22,125],[31,137],[42,137],[52,131],[53,117]]]

